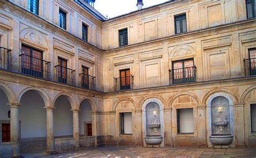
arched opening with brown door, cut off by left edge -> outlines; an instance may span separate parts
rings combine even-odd
[[[0,89],[0,144],[1,142],[10,142],[10,106],[8,97]],[[1,148],[1,147],[0,147]]]

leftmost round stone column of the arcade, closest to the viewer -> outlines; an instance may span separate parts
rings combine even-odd
[[[19,125],[19,103],[10,103],[11,106],[11,142],[12,144],[12,157],[22,157],[21,152],[21,135]]]

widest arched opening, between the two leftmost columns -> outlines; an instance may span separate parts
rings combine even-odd
[[[43,98],[36,90],[26,91],[20,100],[22,152],[46,149],[46,111]]]

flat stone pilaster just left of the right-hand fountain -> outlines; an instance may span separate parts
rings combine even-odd
[[[197,105],[198,113],[198,146],[207,146],[206,143],[206,105]]]

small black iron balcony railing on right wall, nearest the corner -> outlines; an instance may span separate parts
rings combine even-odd
[[[133,89],[133,76],[114,78],[114,90],[128,90]]]

